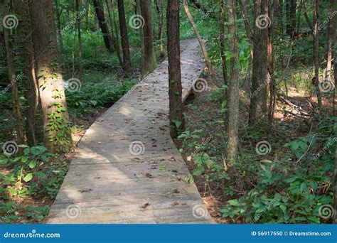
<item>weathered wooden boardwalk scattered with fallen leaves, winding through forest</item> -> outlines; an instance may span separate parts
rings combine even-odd
[[[181,50],[186,97],[204,65],[198,41]],[[169,134],[168,78],[165,61],[90,126],[48,223],[215,223]]]

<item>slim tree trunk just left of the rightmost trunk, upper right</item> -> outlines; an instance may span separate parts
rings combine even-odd
[[[319,0],[314,0],[314,67],[315,67],[315,86],[319,109],[322,107],[321,91],[319,90]]]

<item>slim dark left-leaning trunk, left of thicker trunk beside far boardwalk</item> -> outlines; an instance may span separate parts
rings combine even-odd
[[[123,69],[127,75],[131,74],[129,38],[127,36],[127,21],[125,20],[124,0],[118,0],[119,30],[122,39]]]

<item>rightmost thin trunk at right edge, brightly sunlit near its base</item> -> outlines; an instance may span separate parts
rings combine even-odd
[[[335,0],[330,0],[330,10],[328,13],[329,21],[328,21],[328,28],[326,30],[326,80],[331,81],[331,63],[332,63],[332,45],[333,45],[333,39],[335,38],[336,30],[334,27],[334,20],[336,19],[336,16],[333,16],[333,10],[335,5]],[[335,57],[336,58],[336,57]],[[336,60],[335,60],[336,62]]]

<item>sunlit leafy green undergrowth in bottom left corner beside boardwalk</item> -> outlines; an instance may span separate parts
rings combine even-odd
[[[28,197],[55,198],[68,171],[66,161],[57,161],[55,154],[44,146],[19,146],[21,155],[0,156],[0,165],[8,173],[0,174],[1,220],[13,222],[40,222],[48,215],[49,206],[31,205]]]

